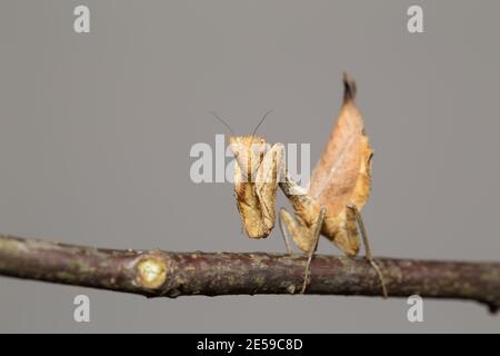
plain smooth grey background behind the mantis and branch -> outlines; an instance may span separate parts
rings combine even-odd
[[[77,4],[91,33],[72,30]],[[424,7],[426,33],[406,30]],[[223,128],[312,142],[341,72],[376,149],[377,255],[498,260],[498,1],[2,1],[0,233],[113,248],[282,251],[240,234],[229,184],[189,179]],[[280,205],[287,202],[280,198]],[[320,253],[339,254],[323,240]],[[73,297],[91,323],[72,320]],[[319,296],[177,300],[0,278],[0,332],[500,332],[476,304]]]

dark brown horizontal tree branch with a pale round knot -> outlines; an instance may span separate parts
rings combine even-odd
[[[140,294],[297,294],[307,257],[111,250],[0,236],[0,275]],[[469,299],[500,307],[500,264],[377,259],[390,297]],[[381,296],[363,258],[316,255],[306,294]]]

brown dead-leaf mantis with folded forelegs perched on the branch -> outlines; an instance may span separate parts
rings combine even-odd
[[[250,238],[266,238],[274,227],[276,195],[278,186],[281,188],[296,212],[293,217],[284,208],[280,210],[280,228],[287,250],[292,253],[290,233],[296,245],[308,254],[302,293],[309,283],[310,265],[320,235],[331,240],[347,256],[357,256],[360,250],[359,227],[366,258],[377,271],[383,296],[387,297],[383,275],[371,256],[360,215],[370,194],[373,151],[364,134],[361,113],[354,105],[356,83],[347,73],[343,76],[343,103],[337,125],[307,189],[290,178],[283,162],[284,146],[270,146],[264,138],[256,136],[258,127],[269,112],[252,135],[232,134],[230,144],[236,158],[237,205],[247,235]]]

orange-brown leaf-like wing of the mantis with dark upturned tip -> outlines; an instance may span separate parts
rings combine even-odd
[[[338,216],[354,202],[361,209],[371,186],[370,161],[373,151],[364,134],[363,120],[354,105],[356,83],[343,75],[344,97],[333,131],[316,166],[309,194],[329,216]]]

